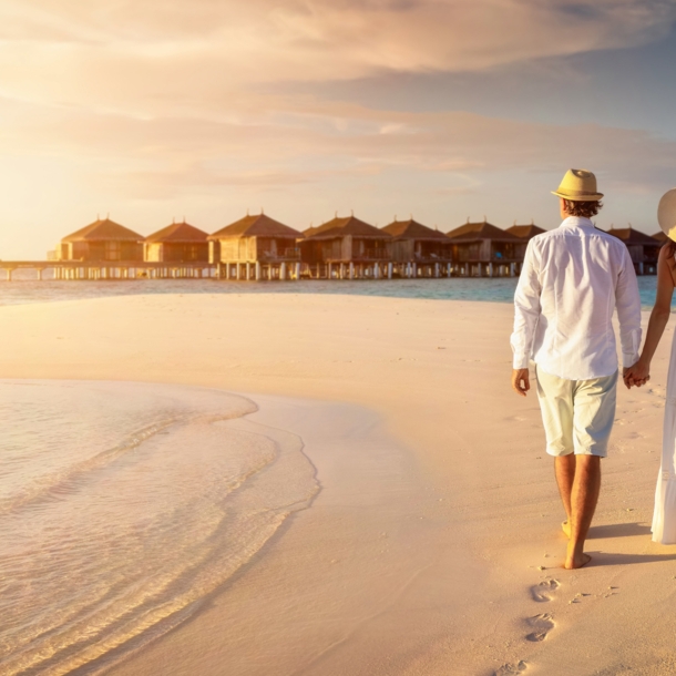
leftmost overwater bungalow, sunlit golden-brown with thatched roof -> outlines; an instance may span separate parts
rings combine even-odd
[[[143,260],[143,239],[139,233],[111,221],[96,219],[61,239],[58,260]]]

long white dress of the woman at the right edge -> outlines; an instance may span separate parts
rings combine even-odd
[[[662,465],[655,491],[653,540],[662,544],[676,544],[676,331],[672,342],[667,397],[664,407]]]

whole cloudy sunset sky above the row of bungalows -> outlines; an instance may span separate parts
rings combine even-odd
[[[110,216],[654,234],[676,185],[676,0],[0,0],[0,259]]]

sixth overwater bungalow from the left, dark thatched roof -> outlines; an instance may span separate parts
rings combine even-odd
[[[463,277],[514,276],[523,263],[523,239],[485,219],[448,233],[455,274]]]

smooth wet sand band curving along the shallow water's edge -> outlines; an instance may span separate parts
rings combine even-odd
[[[377,416],[352,404],[238,395],[259,404],[247,416],[257,424],[284,423],[303,436],[321,489],[185,625],[105,673],[166,673],[170,664],[176,674],[338,673],[326,662],[349,657],[342,653],[351,635],[387,613],[396,604],[391,591],[424,570],[420,547],[430,543],[418,532],[411,503],[433,505],[418,495],[412,457],[383,434]],[[392,493],[406,504],[392,504]],[[346,586],[351,594],[341,593]],[[255,632],[237,635],[236,627],[254,625]]]

